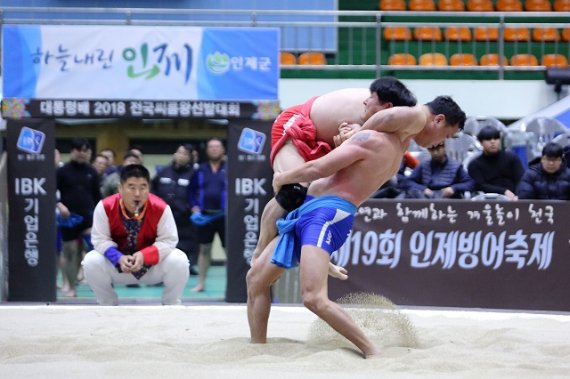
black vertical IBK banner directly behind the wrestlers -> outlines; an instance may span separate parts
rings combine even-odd
[[[273,196],[271,122],[235,120],[228,130],[226,301],[245,303],[245,276],[257,244],[261,213]]]

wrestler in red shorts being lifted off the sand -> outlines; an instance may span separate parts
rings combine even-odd
[[[416,99],[406,86],[395,78],[385,77],[372,82],[369,89],[341,89],[286,109],[277,117],[271,130],[273,170],[283,172],[327,154],[340,143],[337,135],[341,126],[346,126],[343,129],[346,138],[348,134],[345,133],[351,128],[362,125],[383,109],[414,105]],[[286,185],[267,203],[261,215],[252,262],[277,235],[275,222],[285,212],[303,203],[307,186],[308,183]],[[334,265],[331,265],[331,275],[347,277],[342,268]]]

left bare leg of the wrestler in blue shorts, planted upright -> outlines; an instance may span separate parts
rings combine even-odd
[[[247,321],[252,343],[267,342],[267,323],[271,311],[271,285],[284,269],[271,263],[277,239],[270,242],[247,272]]]

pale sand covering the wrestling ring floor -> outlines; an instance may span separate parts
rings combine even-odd
[[[0,378],[568,378],[570,315],[350,307],[364,360],[303,307],[274,306],[249,343],[245,306],[2,306]]]

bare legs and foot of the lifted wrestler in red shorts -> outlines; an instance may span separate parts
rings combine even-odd
[[[286,143],[281,150],[275,155],[273,160],[273,170],[275,172],[284,172],[289,169],[299,167],[305,163],[305,160],[299,152],[295,145],[291,142]],[[308,186],[308,183],[301,183],[303,186]],[[277,235],[277,227],[275,223],[278,219],[285,215],[285,209],[283,209],[274,197],[269,200],[263,213],[261,214],[261,226],[259,228],[259,239],[257,240],[257,246],[253,251],[252,264],[253,261],[261,254],[265,247],[275,238]],[[344,267],[336,266],[332,263],[329,264],[329,275],[341,280],[348,279],[347,271]]]

